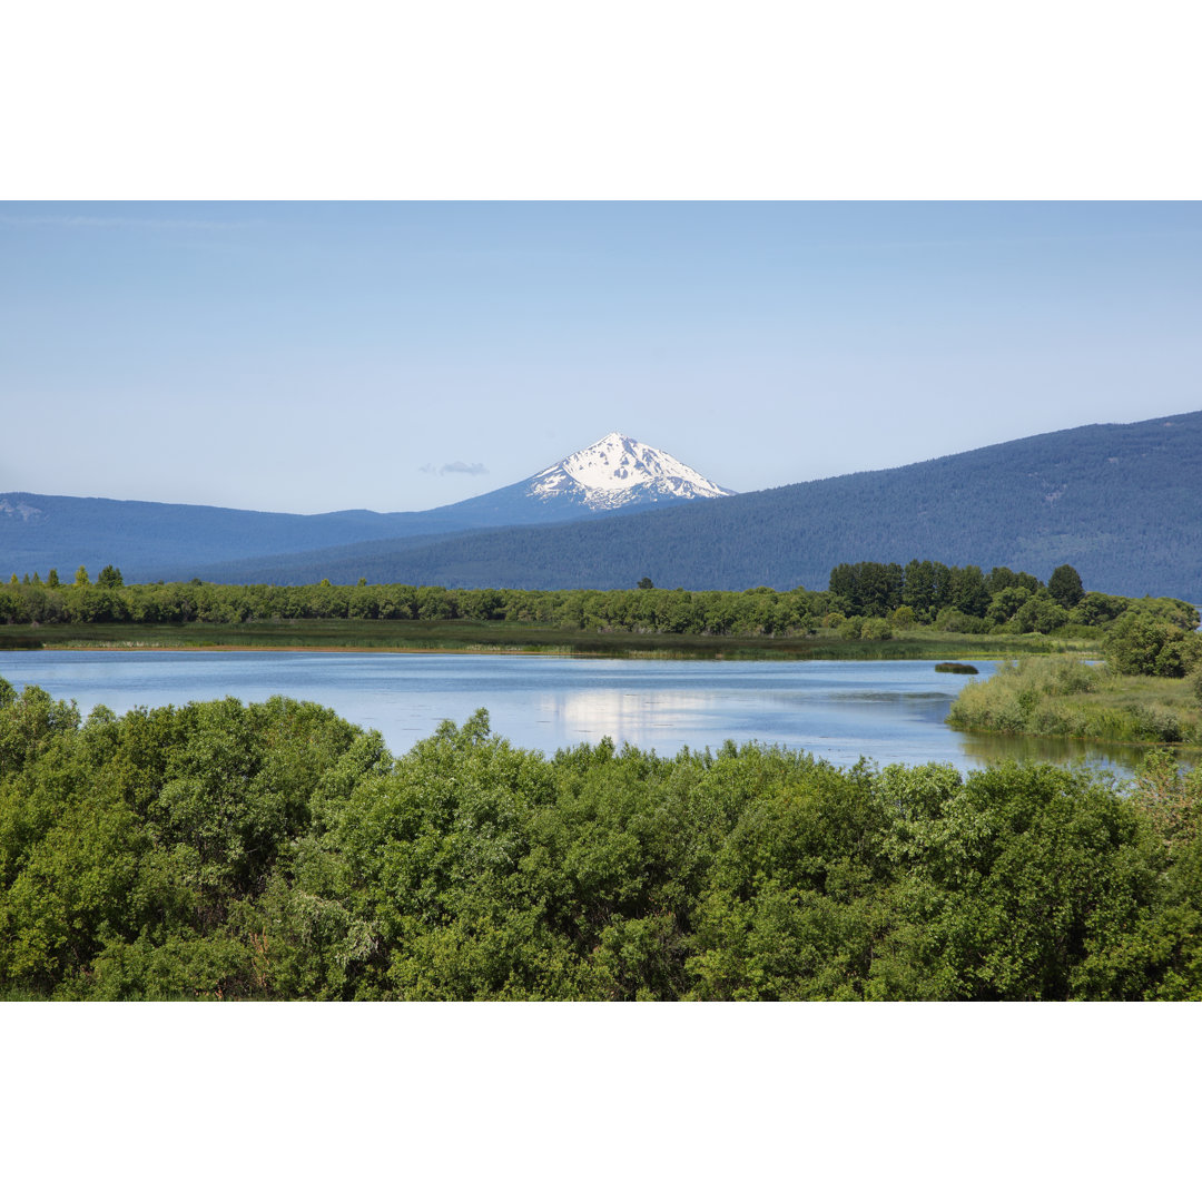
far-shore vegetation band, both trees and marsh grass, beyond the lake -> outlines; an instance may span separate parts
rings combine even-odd
[[[1189,623],[1170,599],[1085,593],[1064,565],[1045,585],[994,567],[930,560],[840,564],[829,588],[778,593],[446,589],[439,585],[157,583],[106,566],[71,584],[50,572],[0,585],[0,645],[554,649],[596,654],[989,657],[1096,650],[1123,615]]]

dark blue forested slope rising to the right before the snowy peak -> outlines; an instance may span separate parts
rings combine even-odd
[[[1084,426],[885,471],[665,510],[321,555],[197,565],[208,579],[452,587],[825,588],[839,563],[995,564],[1088,589],[1202,597],[1202,412]],[[269,567],[269,570],[268,570]]]

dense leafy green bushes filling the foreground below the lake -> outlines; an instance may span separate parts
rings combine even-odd
[[[8,999],[1198,999],[1202,774],[546,757],[481,712],[394,758],[282,697],[0,683]]]

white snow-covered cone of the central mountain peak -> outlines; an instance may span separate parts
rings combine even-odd
[[[614,432],[540,471],[526,495],[543,501],[571,496],[591,510],[615,510],[648,501],[734,494],[666,451]]]

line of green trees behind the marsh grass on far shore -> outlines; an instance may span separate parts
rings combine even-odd
[[[825,590],[767,587],[739,593],[657,589],[643,577],[630,589],[451,589],[413,584],[212,584],[200,579],[124,583],[106,565],[95,582],[81,567],[71,584],[52,571],[0,584],[0,623],[215,623],[291,619],[379,621],[506,621],[632,633],[798,636],[820,626],[846,638],[889,638],[932,625],[966,633],[1048,633],[1101,627],[1129,611],[1196,626],[1198,612],[1172,599],[1087,593],[1071,565],[1047,584],[1029,572],[935,560],[840,564]]]

